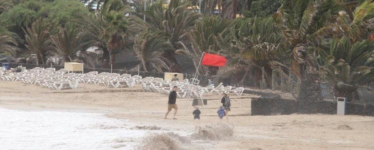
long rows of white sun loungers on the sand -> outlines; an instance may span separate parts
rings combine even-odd
[[[145,92],[157,92],[169,94],[174,86],[177,86],[177,96],[179,98],[200,98],[203,94],[221,95],[222,93],[232,93],[242,95],[245,88],[223,86],[219,83],[217,86],[208,85],[202,87],[199,85],[189,86],[188,79],[182,81],[169,81],[163,78],[145,77],[130,74],[118,74],[97,71],[88,73],[69,73],[67,70],[55,68],[23,69],[21,72],[12,72],[10,70],[0,69],[0,81],[21,81],[26,84],[39,85],[53,90],[76,89],[79,83],[96,84],[111,88],[132,88],[140,84]],[[188,94],[189,93],[189,94]],[[189,96],[190,95],[190,96]]]

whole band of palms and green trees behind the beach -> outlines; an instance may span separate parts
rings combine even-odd
[[[300,99],[309,73],[350,100],[374,80],[372,0],[202,0],[201,13],[198,2],[148,0],[144,10],[144,0],[0,0],[0,53],[114,65],[133,51],[140,70],[159,72],[181,71],[176,55],[197,68],[203,52],[219,53],[228,65],[199,75],[251,76]],[[84,52],[92,46],[101,58]]]

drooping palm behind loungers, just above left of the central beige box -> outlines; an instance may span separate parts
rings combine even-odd
[[[163,31],[150,28],[135,35],[134,51],[141,61],[143,71],[159,71],[169,69],[171,62],[161,56],[160,51],[173,49]],[[154,68],[154,70],[151,70]]]

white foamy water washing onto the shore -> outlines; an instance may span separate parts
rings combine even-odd
[[[0,108],[0,150],[129,150],[146,134],[99,113]]]

